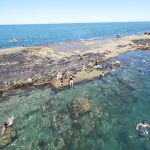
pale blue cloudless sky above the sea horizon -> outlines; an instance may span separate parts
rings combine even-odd
[[[150,21],[150,0],[0,0],[0,24]]]

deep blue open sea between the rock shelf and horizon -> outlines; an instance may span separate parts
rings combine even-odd
[[[121,35],[150,31],[149,22],[140,23],[91,23],[51,25],[1,25],[0,48],[49,45],[81,39],[105,39]],[[9,42],[16,38],[18,42]]]

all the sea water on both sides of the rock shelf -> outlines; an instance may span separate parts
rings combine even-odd
[[[116,33],[145,31],[150,31],[150,23],[0,26],[0,47],[103,39]],[[20,41],[9,43],[10,38]],[[0,124],[13,115],[13,128],[17,130],[17,138],[3,150],[150,150],[150,133],[140,137],[136,131],[142,120],[150,123],[150,51],[127,52],[116,59],[123,66],[102,79],[59,92],[48,86],[33,87],[1,98]],[[90,100],[92,111],[73,121],[67,106],[79,97]]]

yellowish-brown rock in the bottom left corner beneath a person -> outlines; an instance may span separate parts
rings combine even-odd
[[[0,135],[0,149],[10,144],[16,138],[16,136],[16,131],[8,128],[3,135]]]

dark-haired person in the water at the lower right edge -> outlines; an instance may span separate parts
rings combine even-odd
[[[139,123],[136,126],[136,129],[139,131],[139,135],[146,136],[148,135],[148,127],[150,128],[150,125],[145,120],[143,120],[142,123]]]

